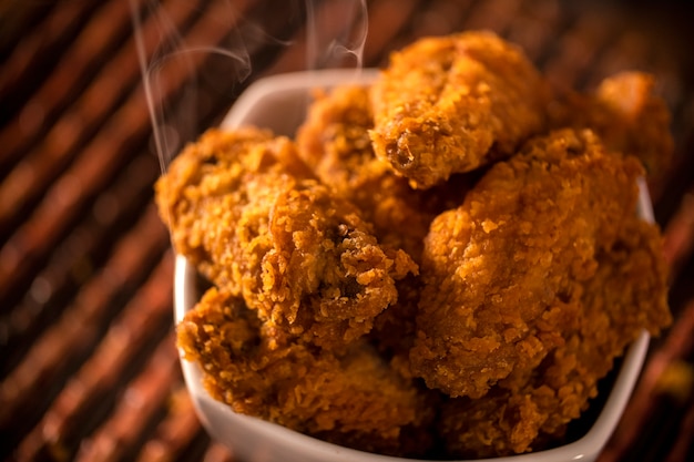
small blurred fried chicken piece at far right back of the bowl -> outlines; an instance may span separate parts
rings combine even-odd
[[[654,86],[653,75],[621,72],[593,94],[565,92],[553,105],[552,125],[593,130],[609,150],[637,157],[649,181],[657,182],[670,168],[674,141],[670,110]]]

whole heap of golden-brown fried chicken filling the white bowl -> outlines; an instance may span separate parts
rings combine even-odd
[[[156,201],[212,284],[177,327],[210,393],[400,456],[561,442],[615,358],[671,322],[635,207],[672,138],[645,74],[557,95],[519,49],[463,32],[316,93],[296,141],[188,145]]]

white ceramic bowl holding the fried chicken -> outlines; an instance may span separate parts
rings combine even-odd
[[[368,83],[375,70],[329,70],[276,75],[257,81],[237,100],[223,127],[255,124],[277,134],[294,135],[304,120],[305,107],[315,88],[344,83]],[[641,185],[640,213],[653,220],[645,184]],[[175,320],[180,322],[200,294],[195,269],[184,257],[176,258]],[[588,433],[576,441],[547,451],[490,459],[496,462],[594,461],[612,434],[639,378],[649,346],[643,332],[629,348],[615,381]],[[402,459],[378,455],[330,444],[257,418],[237,414],[205,391],[197,365],[181,361],[183,374],[197,413],[210,434],[231,448],[238,460],[282,462],[396,462]],[[410,460],[411,461],[411,460]]]

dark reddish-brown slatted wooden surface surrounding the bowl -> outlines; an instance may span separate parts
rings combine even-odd
[[[651,193],[675,322],[652,341],[601,461],[692,456],[687,3],[371,0],[367,14],[353,14],[359,10],[334,0],[0,2],[0,458],[234,460],[205,434],[181,377],[172,253],[152,202],[161,165],[145,88],[173,153],[258,78],[359,62],[339,48],[324,53],[329,39],[361,65],[379,66],[418,37],[482,28],[521,44],[550,79],[576,89],[623,69],[657,79],[676,154]]]

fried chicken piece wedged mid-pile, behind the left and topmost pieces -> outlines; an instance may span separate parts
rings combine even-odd
[[[429,224],[462,202],[474,175],[456,175],[432,188],[412,189],[374,153],[368,86],[338,86],[315,96],[297,131],[299,155],[325,185],[359,207],[364,218],[374,224],[379,242],[402,248],[419,263]],[[376,318],[369,337],[395,368],[411,377],[408,357],[420,281],[409,276],[396,287],[397,304]]]

